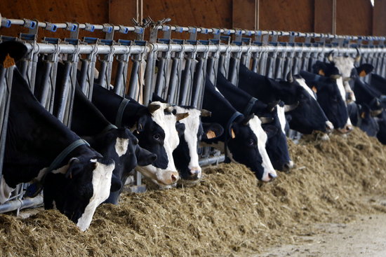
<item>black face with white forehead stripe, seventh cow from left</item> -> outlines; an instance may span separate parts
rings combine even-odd
[[[321,132],[331,130],[326,114],[303,78],[295,77],[292,83],[282,81],[280,94],[286,104],[298,105],[292,111],[288,111],[292,117],[289,123],[291,129],[302,134],[311,134],[314,130]]]

